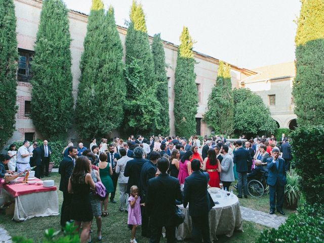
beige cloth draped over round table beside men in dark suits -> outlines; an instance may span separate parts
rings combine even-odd
[[[211,240],[217,240],[216,235],[223,235],[230,237],[234,230],[243,231],[241,211],[239,208],[238,198],[234,195],[233,198],[216,197],[215,193],[211,193],[214,201],[218,201],[216,205],[209,212],[209,227]],[[178,240],[184,240],[185,238],[191,238],[192,223],[189,216],[188,206],[186,209],[183,205],[179,208],[185,215],[184,223],[179,225],[176,230],[176,237]]]

